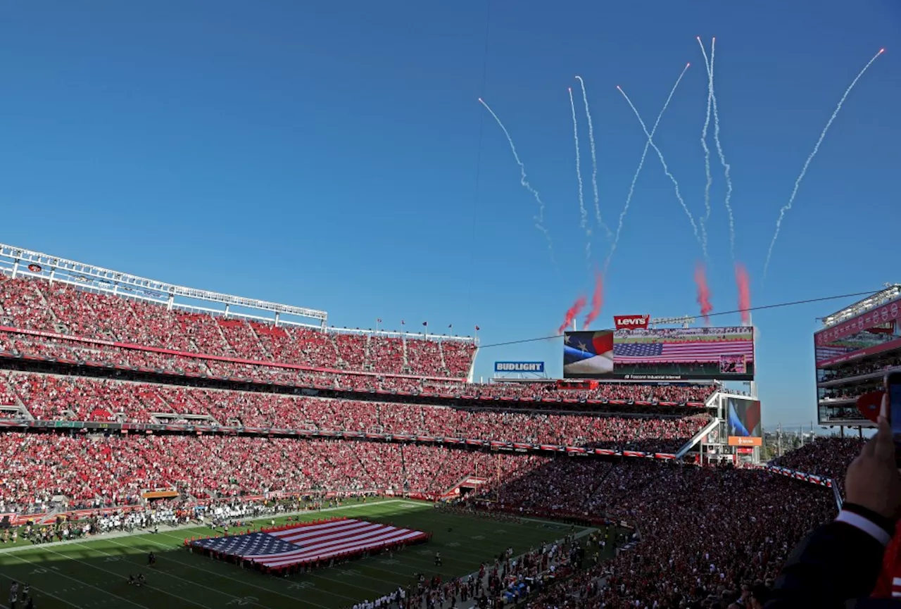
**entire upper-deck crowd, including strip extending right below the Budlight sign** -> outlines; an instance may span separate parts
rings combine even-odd
[[[0,303],[0,324],[86,339],[0,332],[0,350],[168,374],[483,399],[702,404],[714,391],[713,386],[605,384],[592,390],[560,390],[546,383],[468,385],[462,381],[469,374],[476,350],[470,341],[276,326],[168,309],[39,279],[0,277]],[[112,341],[122,344],[116,346]],[[246,359],[248,363],[211,358]],[[285,368],[291,365],[334,371]]]

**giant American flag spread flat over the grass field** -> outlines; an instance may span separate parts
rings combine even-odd
[[[191,545],[269,568],[307,564],[428,538],[428,533],[352,518],[300,523],[267,532],[192,541]]]

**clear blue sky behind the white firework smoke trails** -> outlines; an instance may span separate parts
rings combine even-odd
[[[387,327],[428,320],[463,332],[478,323],[486,344],[551,334],[591,288],[567,88],[576,74],[586,80],[601,211],[614,222],[644,144],[615,86],[652,122],[691,61],[655,141],[698,214],[701,35],[717,37],[721,140],[753,303],[899,279],[888,227],[901,216],[901,5],[550,6],[492,0],[486,53],[485,2],[4,2],[0,240],[325,309],[339,325],[381,317]],[[778,209],[844,89],[881,47],[808,170],[764,284]],[[559,269],[480,95],[547,205]],[[590,218],[581,107],[578,118]],[[708,276],[714,310],[727,311],[737,295],[715,153],[713,162]],[[608,247],[596,234],[595,262]],[[651,155],[596,326],[613,314],[696,314],[700,258]],[[766,425],[815,416],[815,317],[844,304],[755,315]],[[560,374],[560,341],[479,359],[486,377],[495,359],[543,359]]]

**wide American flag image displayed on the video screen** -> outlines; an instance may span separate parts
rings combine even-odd
[[[724,356],[742,355],[748,361],[753,359],[753,341],[614,342],[616,364],[719,361]]]

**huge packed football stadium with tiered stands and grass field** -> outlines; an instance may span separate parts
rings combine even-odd
[[[41,607],[725,606],[835,513],[860,448],[832,438],[761,463],[754,386],[723,381],[752,378],[752,346],[727,368],[657,358],[663,381],[586,378],[585,362],[608,352],[615,373],[634,353],[618,344],[736,345],[748,329],[569,332],[572,375],[478,384],[473,338],[0,255],[0,577]],[[897,289],[823,332],[893,315]],[[892,328],[821,385],[896,365]],[[841,424],[827,390],[821,423]]]

